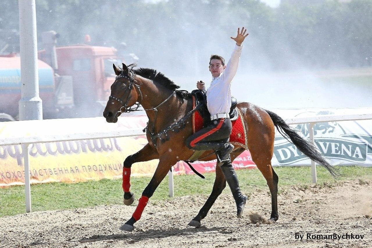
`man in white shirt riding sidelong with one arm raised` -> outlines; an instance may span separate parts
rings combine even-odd
[[[227,65],[219,55],[212,55],[209,60],[209,71],[212,74],[212,82],[206,91],[207,108],[211,114],[211,124],[196,132],[185,141],[186,146],[192,150],[214,150],[217,151],[218,165],[220,166],[227,183],[234,196],[237,205],[237,216],[241,217],[247,196],[240,191],[237,175],[232,168],[230,153],[234,146],[229,143],[231,134],[231,121],[229,111],[231,108],[231,81],[238,69],[241,44],[248,36],[247,29],[238,28],[236,38],[230,37],[236,42],[234,51]],[[200,90],[205,90],[204,83],[198,81],[196,84]]]

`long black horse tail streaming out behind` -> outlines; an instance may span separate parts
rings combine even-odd
[[[318,152],[318,150],[314,147],[314,145],[311,142],[302,139],[302,137],[299,136],[296,130],[287,125],[285,121],[282,118],[280,118],[279,115],[266,109],[265,111],[270,115],[279,133],[282,134],[283,137],[285,137],[286,139],[287,137],[289,137],[289,139],[291,139],[292,143],[298,148],[298,150],[300,150],[302,153],[308,156],[311,160],[317,162],[319,165],[327,169],[333,177],[338,177],[340,175],[339,170],[330,165],[330,163],[328,163],[325,160],[323,155],[321,155]]]

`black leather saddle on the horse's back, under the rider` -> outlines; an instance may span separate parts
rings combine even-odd
[[[198,109],[199,114],[203,118],[203,127],[206,127],[211,123],[211,114],[208,111],[207,108],[207,95],[204,90],[193,90],[191,92],[191,95],[195,98],[195,106],[198,106],[198,104],[202,103],[202,106]],[[229,112],[230,120],[234,121],[238,118],[238,111],[236,109],[236,105],[238,104],[238,101],[231,97],[231,108]]]

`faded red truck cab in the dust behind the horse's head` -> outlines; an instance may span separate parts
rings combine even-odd
[[[112,64],[121,64],[116,49],[91,45],[73,45],[55,48],[60,76],[71,76],[74,108],[68,117],[101,116],[115,80]],[[48,61],[45,50],[39,59]]]

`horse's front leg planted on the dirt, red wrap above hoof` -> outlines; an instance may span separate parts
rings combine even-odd
[[[153,196],[154,191],[159,186],[160,182],[168,174],[170,168],[175,165],[177,160],[174,158],[160,158],[158,167],[155,170],[153,178],[151,178],[150,183],[147,185],[145,190],[142,193],[140,200],[138,200],[138,205],[134,213],[132,214],[131,219],[129,219],[124,225],[121,226],[121,230],[132,231],[134,230],[134,223],[137,222],[142,215],[143,210],[145,209],[148,199]]]

